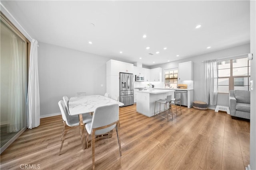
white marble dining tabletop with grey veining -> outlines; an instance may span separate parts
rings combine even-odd
[[[81,113],[91,113],[99,106],[107,106],[111,104],[119,104],[123,106],[124,104],[100,95],[92,96],[80,96],[71,97],[68,102],[68,108],[70,115],[79,115]]]

